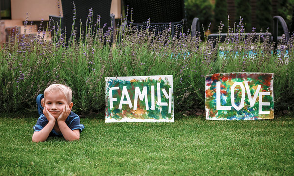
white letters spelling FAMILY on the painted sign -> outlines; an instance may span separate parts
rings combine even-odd
[[[138,98],[140,101],[145,101],[145,108],[146,110],[155,110],[155,86],[150,85],[151,87],[151,94],[148,95],[147,92],[147,86],[143,86],[142,91],[140,90],[140,87],[135,87],[135,93],[133,95],[134,97],[134,105],[132,105],[132,101],[130,98],[130,95],[128,93],[127,86],[123,86],[123,91],[121,94],[121,100],[118,109],[122,110],[122,107],[124,104],[127,104],[129,108],[131,109],[133,107],[133,110],[137,110],[138,105]],[[109,88],[109,105],[110,109],[113,109],[113,103],[117,101],[117,98],[113,97],[114,91],[120,90],[120,87],[111,87]],[[158,106],[168,106],[168,113],[172,113],[172,88],[169,88],[169,93],[165,89],[160,88],[160,83],[157,83],[156,85],[156,93],[157,93],[157,101],[156,104]],[[168,99],[168,102],[162,102],[161,101],[161,93]],[[148,96],[151,96],[151,107],[149,107],[148,103]]]

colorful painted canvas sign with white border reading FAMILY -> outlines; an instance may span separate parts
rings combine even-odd
[[[174,122],[172,75],[107,77],[105,122]]]

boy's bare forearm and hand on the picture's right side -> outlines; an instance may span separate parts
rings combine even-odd
[[[69,126],[65,123],[65,120],[70,113],[71,113],[71,109],[69,108],[69,105],[66,105],[63,108],[63,111],[60,114],[60,116],[57,118],[57,123],[65,140],[68,140],[68,141],[79,140],[79,136],[80,136],[79,129],[71,130]]]

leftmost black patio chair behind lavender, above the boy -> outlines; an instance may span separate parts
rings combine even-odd
[[[112,0],[61,0],[62,5],[62,17],[59,16],[49,16],[49,19],[53,19],[55,25],[60,23],[62,33],[66,32],[66,39],[69,41],[72,35],[72,24],[73,24],[73,12],[74,12],[74,4],[76,9],[75,14],[75,25],[74,29],[76,30],[76,39],[79,39],[80,28],[82,31],[86,30],[86,21],[89,14],[89,9],[93,10],[93,21],[92,27],[94,28],[94,24],[97,20],[97,16],[100,15],[100,28],[106,24],[103,28],[103,32],[105,33],[108,30],[108,27],[114,27],[114,15],[110,14],[110,6]],[[74,4],[73,4],[74,3]],[[80,22],[82,23],[82,27],[80,26]],[[52,25],[52,24],[51,24]],[[87,24],[89,28],[89,23]],[[55,26],[56,27],[56,26]],[[66,31],[65,31],[66,28]]]

